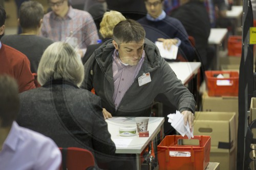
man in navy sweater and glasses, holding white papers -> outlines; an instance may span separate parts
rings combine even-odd
[[[165,48],[175,44],[179,53],[187,60],[195,59],[194,48],[182,23],[169,17],[163,10],[163,0],[144,0],[147,15],[138,20],[146,31],[146,38],[155,42],[162,41]]]

